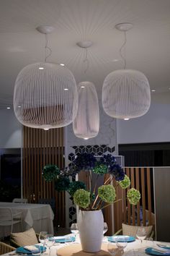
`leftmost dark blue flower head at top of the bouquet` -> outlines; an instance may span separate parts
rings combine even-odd
[[[94,157],[93,154],[90,153],[82,153],[78,155],[76,159],[73,161],[76,169],[79,171],[81,170],[92,170],[97,162],[97,159]]]

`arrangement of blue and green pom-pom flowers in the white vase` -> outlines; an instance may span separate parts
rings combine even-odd
[[[53,170],[53,171],[52,171]],[[86,171],[89,176],[91,189],[86,189],[84,182],[71,182],[70,176],[79,174],[80,171]],[[93,177],[92,177],[92,173]],[[116,200],[116,191],[112,182],[115,180],[115,186],[122,189],[130,187],[130,179],[123,168],[117,164],[113,155],[103,155],[97,161],[91,153],[82,153],[64,170],[59,170],[57,166],[45,166],[42,176],[46,181],[55,180],[55,189],[60,191],[68,191],[73,202],[81,208],[81,210],[101,210]],[[94,179],[95,182],[92,182]],[[103,176],[103,185],[97,188],[97,179]],[[140,200],[140,192],[137,189],[130,188],[127,192],[127,199],[130,204],[136,205]]]

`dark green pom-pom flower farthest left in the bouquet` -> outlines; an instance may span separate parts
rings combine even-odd
[[[42,176],[46,182],[52,182],[54,179],[58,178],[58,174],[60,174],[60,172],[61,171],[58,166],[55,166],[54,164],[48,164],[47,166],[44,166],[42,170]]]

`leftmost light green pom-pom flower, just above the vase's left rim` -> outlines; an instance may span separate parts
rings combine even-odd
[[[81,208],[87,208],[90,204],[90,192],[77,189],[73,195],[73,202]]]

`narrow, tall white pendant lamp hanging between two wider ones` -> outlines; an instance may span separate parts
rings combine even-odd
[[[92,45],[91,41],[77,43],[86,51],[84,62],[87,64],[85,73],[89,67],[87,48]],[[73,120],[73,132],[76,137],[88,140],[96,137],[99,133],[99,102],[97,90],[92,82],[80,82],[78,85],[79,108],[76,119]]]

